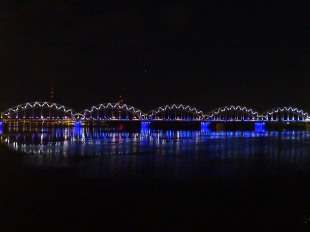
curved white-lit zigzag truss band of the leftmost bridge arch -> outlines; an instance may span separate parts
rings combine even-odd
[[[51,110],[56,110],[64,113],[64,115],[69,116],[69,118],[75,118],[78,116],[74,110],[57,103],[48,103],[48,102],[32,102],[32,103],[23,103],[11,107],[3,112],[1,112],[1,118],[11,118],[14,115],[17,115],[20,111],[35,109],[35,108],[48,108]]]

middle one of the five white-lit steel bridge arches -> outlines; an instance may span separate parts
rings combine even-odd
[[[188,115],[186,116],[183,114],[179,115],[179,117],[177,117],[177,114],[173,114],[173,115],[170,114],[170,116],[168,114],[168,116],[167,115],[165,117],[163,116],[165,112],[173,111],[173,110],[185,111],[187,113],[194,115],[195,117],[189,118]],[[161,115],[161,117],[159,117],[159,115]],[[205,118],[205,113],[189,105],[171,104],[171,105],[160,106],[158,108],[155,108],[149,111],[148,117],[149,119],[153,119],[153,120],[203,120]]]

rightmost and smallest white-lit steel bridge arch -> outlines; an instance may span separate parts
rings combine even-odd
[[[283,106],[265,111],[262,114],[262,119],[268,121],[308,121],[310,115],[302,109]]]

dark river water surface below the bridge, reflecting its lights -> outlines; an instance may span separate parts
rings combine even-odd
[[[34,181],[36,191],[36,181],[43,177],[53,186],[46,192],[61,185],[61,192],[70,195],[62,205],[72,201],[72,194],[87,204],[85,196],[99,194],[95,205],[102,208],[96,210],[108,208],[116,214],[131,204],[130,198],[132,209],[124,211],[132,228],[172,230],[181,219],[188,230],[240,225],[302,230],[310,218],[309,131],[12,127],[1,130],[0,140],[18,152],[17,174],[6,175],[22,175],[25,189],[27,181],[30,186]],[[70,181],[62,182],[67,177]],[[112,214],[107,217],[119,225]],[[145,224],[135,221],[137,217]]]

